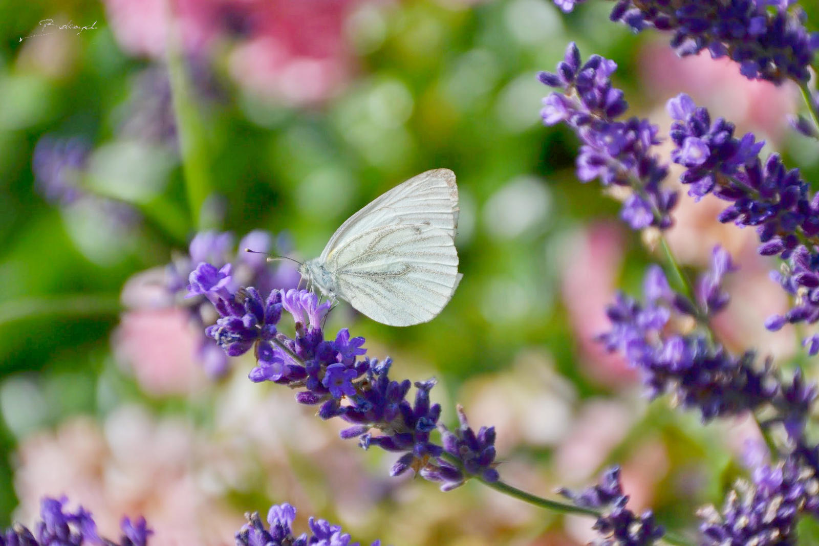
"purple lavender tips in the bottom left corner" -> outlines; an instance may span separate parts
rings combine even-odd
[[[91,512],[82,507],[70,512],[66,510],[66,503],[68,499],[65,497],[43,498],[40,501],[41,519],[34,524],[34,532],[15,524],[0,534],[0,546],[146,546],[148,537],[153,534],[143,517],[136,521],[124,517],[120,524],[123,536],[119,545],[101,539]]]

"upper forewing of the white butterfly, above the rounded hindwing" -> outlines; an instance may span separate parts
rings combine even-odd
[[[458,227],[458,186],[450,169],[432,169],[409,178],[342,223],[321,253],[327,262],[333,252],[346,246],[361,232],[378,226],[421,224],[440,229],[455,238]]]

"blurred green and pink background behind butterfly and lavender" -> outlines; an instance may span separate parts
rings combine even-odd
[[[512,485],[550,495],[622,463],[633,506],[680,528],[722,499],[753,426],[703,427],[670,400],[649,404],[593,341],[617,287],[639,290],[651,241],[623,228],[596,183],[577,183],[577,141],[541,125],[549,90],[535,74],[574,40],[584,57],[618,61],[632,113],[662,133],[664,102],[686,92],[807,179],[819,179],[819,154],[785,123],[794,88],[681,61],[666,37],[610,23],[610,7],[0,2],[0,524],[28,524],[41,496],[67,494],[103,534],[144,514],[152,544],[233,544],[243,512],[287,501],[363,542],[585,543],[588,519],[480,484],[442,494],[389,478],[394,456],[340,440],[339,423],[291,391],[251,384],[249,358],[214,378],[201,330],[165,291],[166,264],[197,232],[236,245],[265,230],[263,250],[307,259],[360,206],[438,167],[460,190],[455,298],[410,328],[341,305],[328,331],[365,336],[396,377],[437,377],[444,422],[460,403],[474,426],[495,425]],[[716,223],[718,201],[682,201],[670,239],[686,268],[717,242],[742,267],[722,341],[786,362],[794,332],[762,328],[785,301],[753,233]]]

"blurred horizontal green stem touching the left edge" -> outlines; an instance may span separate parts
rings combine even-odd
[[[67,317],[115,315],[121,310],[120,297],[109,294],[20,298],[0,304],[0,325],[49,315]]]

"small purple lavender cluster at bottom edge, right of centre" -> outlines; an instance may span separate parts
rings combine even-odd
[[[645,510],[638,517],[626,505],[628,495],[623,494],[620,483],[620,467],[610,467],[604,472],[599,485],[594,485],[580,493],[567,489],[559,490],[567,499],[581,508],[602,508],[592,529],[600,537],[590,544],[595,546],[650,546],[663,538],[665,530],[654,521],[654,513]]]

